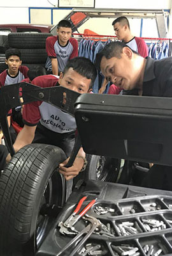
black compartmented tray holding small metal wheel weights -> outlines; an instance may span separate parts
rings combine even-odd
[[[91,184],[90,184],[91,183]],[[76,184],[77,185],[77,184]],[[86,188],[89,188],[87,190]],[[104,225],[110,226],[113,231],[111,237],[92,234],[88,241],[83,244],[82,248],[87,248],[87,244],[96,246],[99,244],[104,254],[93,254],[93,255],[122,255],[117,253],[113,248],[118,250],[120,246],[131,246],[138,248],[136,253],[133,255],[147,256],[148,252],[145,251],[145,246],[154,246],[154,252],[150,255],[156,255],[158,250],[162,250],[158,255],[172,255],[172,192],[171,191],[160,191],[156,189],[139,188],[134,186],[125,186],[123,184],[111,184],[106,182],[99,182],[89,180],[86,188],[75,189],[73,194],[70,196],[66,206],[63,208],[59,218],[56,221],[56,225],[52,228],[47,237],[47,241],[43,243],[40,248],[38,255],[56,255],[73,236],[64,236],[59,233],[59,227],[57,226],[59,221],[65,221],[68,216],[74,211],[76,204],[79,202],[82,196],[87,195],[87,200],[82,205],[82,209],[90,202],[90,200],[97,198],[96,204],[92,206],[87,212],[88,215],[94,216],[99,219]],[[90,191],[90,188],[95,188],[94,191]],[[133,197],[130,197],[133,196]],[[122,198],[121,198],[122,197]],[[129,197],[129,198],[124,198]],[[114,198],[114,200],[113,200]],[[105,214],[98,214],[97,207],[108,207],[112,209]],[[81,211],[82,211],[81,209]],[[115,211],[113,211],[115,210]],[[159,221],[156,225],[145,225],[145,221]],[[133,223],[133,227],[136,228],[136,234],[122,234],[120,232],[121,225],[123,223]],[[153,227],[152,227],[153,226]],[[75,228],[81,231],[85,227],[85,221],[82,218],[75,224]],[[53,232],[54,230],[54,232]],[[126,230],[125,230],[126,231]],[[131,231],[131,230],[130,230]],[[53,236],[53,238],[52,238]],[[52,242],[53,241],[53,242]],[[45,252],[46,244],[52,244],[51,253],[41,254]],[[76,245],[76,244],[75,244]],[[85,247],[86,246],[86,247]],[[115,246],[115,247],[114,247]],[[70,255],[73,250],[62,253],[62,255]],[[56,254],[55,254],[56,252]],[[79,250],[76,255],[92,255],[84,254],[82,250]],[[124,255],[128,255],[125,254]]]

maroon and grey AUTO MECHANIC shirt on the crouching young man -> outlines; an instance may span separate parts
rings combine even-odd
[[[57,86],[59,78],[54,75],[39,76],[32,80],[32,84],[39,87]],[[31,102],[26,104],[23,109],[24,124],[29,126],[41,125],[50,131],[64,133],[76,130],[75,118],[61,109],[48,104],[47,102]]]

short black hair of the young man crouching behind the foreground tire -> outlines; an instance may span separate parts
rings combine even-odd
[[[63,74],[68,72],[69,68],[73,68],[81,76],[91,79],[90,88],[92,88],[97,76],[97,70],[92,61],[85,57],[76,57],[68,61]]]

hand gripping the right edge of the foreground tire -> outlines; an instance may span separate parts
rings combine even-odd
[[[76,157],[73,166],[66,168],[64,166],[68,163],[68,161],[69,157],[64,162],[59,164],[59,173],[64,175],[66,180],[70,180],[76,177],[83,167],[83,159],[81,157]]]

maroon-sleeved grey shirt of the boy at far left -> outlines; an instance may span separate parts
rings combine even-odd
[[[20,83],[23,79],[27,77],[28,70],[28,67],[20,66],[18,68],[18,73],[16,76],[10,76],[10,74],[8,73],[8,69],[4,70],[0,74],[0,88],[4,85]]]

